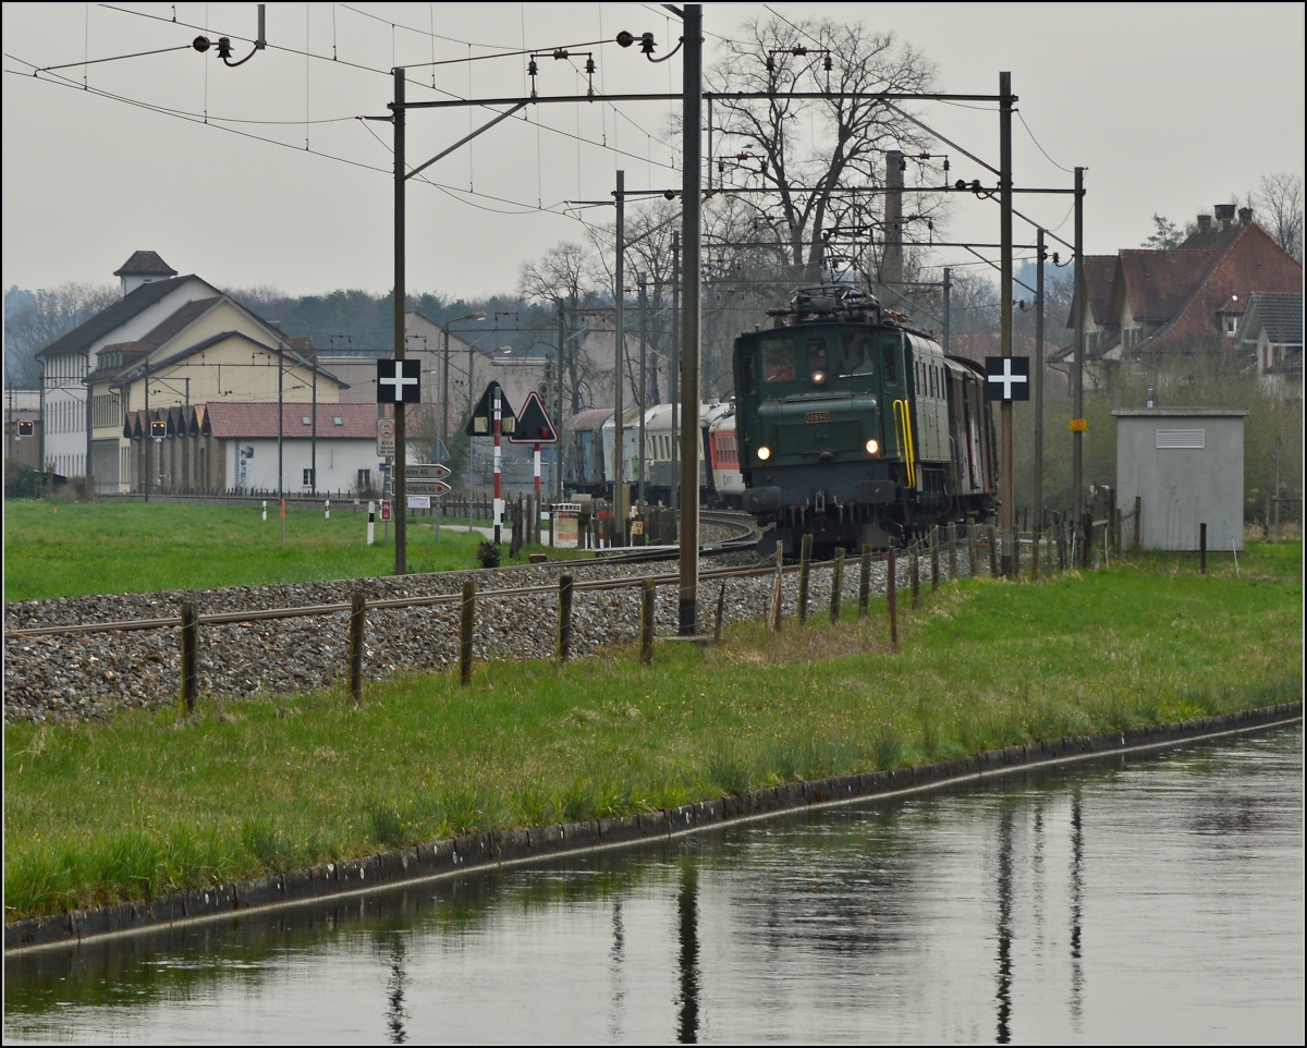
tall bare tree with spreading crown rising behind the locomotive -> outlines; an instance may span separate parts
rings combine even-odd
[[[716,103],[725,142],[720,174],[729,162],[770,189],[742,197],[754,239],[780,246],[796,277],[817,280],[834,227],[878,227],[880,197],[861,191],[884,186],[886,150],[920,152],[927,144],[878,95],[925,90],[935,67],[893,34],[857,24],[758,18],[740,35],[708,73],[710,88],[772,97]],[[786,97],[827,89],[823,98]]]

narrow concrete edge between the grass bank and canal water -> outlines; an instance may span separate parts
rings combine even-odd
[[[325,862],[231,885],[165,895],[95,909],[74,909],[5,924],[7,954],[26,953],[148,932],[166,925],[230,919],[252,909],[293,906],[314,899],[356,895],[383,886],[452,877],[465,870],[533,862],[638,844],[769,818],[799,809],[825,808],[856,800],[937,789],[1022,771],[1043,764],[1090,761],[1111,754],[1161,749],[1180,742],[1236,734],[1300,720],[1302,700],[1244,710],[1212,717],[1134,728],[1124,733],[1070,736],[1051,742],[1008,746],[974,757],[865,775],[838,775],[812,783],[755,789],[738,796],[682,805],[621,818],[559,823],[531,830],[491,830],[485,834],[420,844],[391,852]]]

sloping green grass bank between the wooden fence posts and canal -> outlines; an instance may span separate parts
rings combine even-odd
[[[5,730],[12,917],[457,832],[626,814],[795,779],[1302,696],[1302,546],[946,584],[904,614],[491,664],[197,716]]]

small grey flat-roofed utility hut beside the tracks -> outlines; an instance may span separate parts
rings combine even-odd
[[[1140,499],[1140,545],[1243,550],[1243,419],[1234,408],[1123,408],[1116,417],[1116,490],[1124,515]],[[1125,534],[1133,529],[1125,527]]]

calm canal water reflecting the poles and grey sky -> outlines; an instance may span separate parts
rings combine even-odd
[[[1300,725],[5,960],[7,1041],[1302,1044]]]

